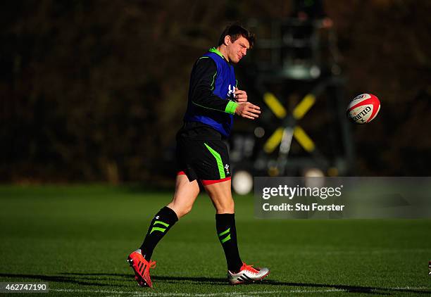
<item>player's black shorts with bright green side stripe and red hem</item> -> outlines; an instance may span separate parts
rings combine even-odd
[[[222,139],[190,139],[177,136],[177,174],[187,175],[189,181],[215,184],[230,179],[227,144]]]

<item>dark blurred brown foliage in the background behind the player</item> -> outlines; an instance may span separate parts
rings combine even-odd
[[[228,22],[285,18],[290,6],[2,2],[0,180],[158,181],[195,59]],[[370,126],[352,125],[357,175],[430,175],[431,1],[330,0],[325,8],[346,103],[364,92],[382,102]]]

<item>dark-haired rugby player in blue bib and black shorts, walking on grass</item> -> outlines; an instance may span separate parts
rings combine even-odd
[[[235,209],[231,192],[229,153],[225,140],[232,129],[233,115],[254,120],[260,108],[247,101],[246,91],[237,88],[233,64],[244,58],[254,44],[254,34],[240,25],[230,25],[218,46],[194,63],[184,125],[177,133],[177,180],[173,201],[156,213],[142,246],[130,253],[127,262],[139,286],[152,287],[151,255],[169,229],[189,213],[201,182],[215,207],[215,227],[223,246],[230,284],[255,282],[269,274],[268,268],[246,265],[239,257]]]

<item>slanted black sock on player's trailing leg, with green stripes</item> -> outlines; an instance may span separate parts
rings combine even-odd
[[[149,261],[153,255],[154,248],[169,229],[177,222],[178,217],[175,211],[165,206],[154,216],[149,225],[144,242],[141,245],[142,255]]]

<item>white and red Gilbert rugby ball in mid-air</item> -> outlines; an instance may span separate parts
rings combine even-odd
[[[373,94],[361,94],[350,101],[347,117],[356,124],[365,124],[374,120],[380,110],[380,101]]]

